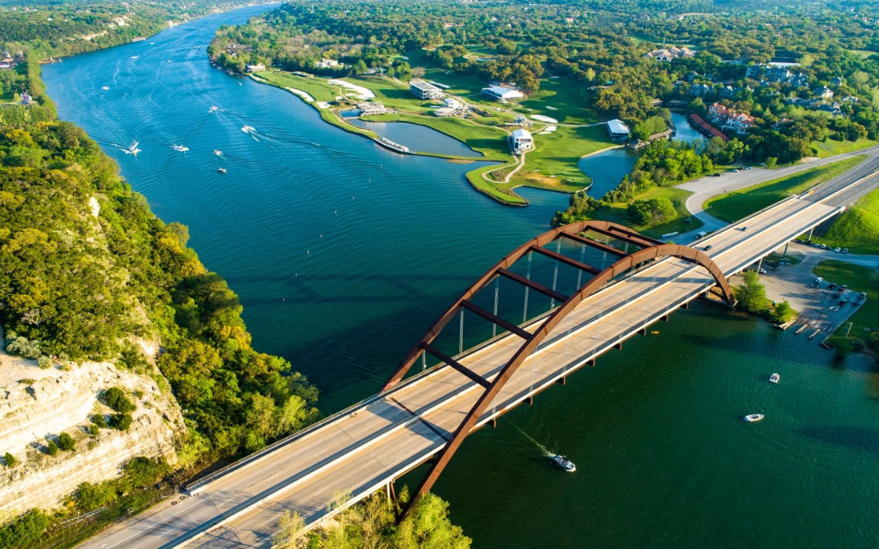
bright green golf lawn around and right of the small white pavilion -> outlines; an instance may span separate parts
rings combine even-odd
[[[527,153],[525,167],[513,177],[513,183],[560,191],[576,191],[590,184],[578,161],[611,145],[604,127],[558,126],[551,134],[540,134],[541,126],[534,126],[537,148]]]

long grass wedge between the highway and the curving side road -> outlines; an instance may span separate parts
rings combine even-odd
[[[855,156],[826,166],[801,171],[793,176],[773,179],[741,191],[722,194],[705,203],[705,210],[719,220],[735,221],[770,206],[788,196],[807,191],[829,181],[861,163],[865,157]]]

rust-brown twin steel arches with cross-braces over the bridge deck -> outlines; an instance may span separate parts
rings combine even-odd
[[[589,235],[600,235],[607,242],[599,242]],[[548,244],[559,241],[573,242],[581,247],[599,250],[599,252],[616,257],[616,261],[605,269],[598,269],[590,264],[585,264],[582,261],[565,256],[558,251],[546,248]],[[622,244],[624,246],[623,249],[609,245],[609,242],[612,241]],[[630,247],[634,247],[635,251],[629,252],[628,249]],[[550,260],[555,261],[556,264],[568,265],[581,273],[591,275],[592,278],[588,279],[583,285],[578,283],[579,287],[576,292],[565,295],[557,292],[555,287],[540,284],[529,277],[523,277],[511,270],[513,264],[516,264],[523,257],[529,256],[532,253],[546,256]],[[599,220],[572,223],[537,236],[533,240],[519,246],[519,248],[514,249],[510,254],[501,259],[498,264],[495,264],[489,271],[486,271],[482,277],[478,278],[473,285],[470,285],[461,294],[461,297],[448,307],[445,314],[440,316],[438,321],[434,322],[431,328],[427,330],[425,336],[415,344],[382,388],[382,392],[384,392],[399,383],[406,373],[410,371],[411,367],[416,364],[418,358],[420,357],[424,360],[426,354],[438,358],[441,362],[461,372],[461,374],[482,387],[482,393],[476,400],[476,404],[464,415],[461,423],[454,430],[454,434],[448,440],[445,447],[432,459],[430,470],[421,480],[407,508],[403,510],[403,516],[409,512],[421,495],[424,495],[432,488],[439,478],[439,474],[442,473],[449,460],[452,459],[454,452],[461,446],[464,439],[476,429],[480,416],[490,407],[491,401],[498,395],[506,382],[512,378],[513,373],[519,369],[519,366],[544,341],[552,329],[556,328],[575,307],[590,295],[596,293],[604,285],[665,257],[677,257],[686,262],[704,267],[715,279],[716,288],[719,290],[721,298],[730,307],[735,304],[729,281],[723,275],[723,271],[701,250],[679,244],[660,242],[648,236],[640,235],[636,231],[622,225]],[[554,302],[558,301],[560,305],[549,311],[548,314],[541,316],[536,323],[530,322],[527,325],[517,325],[507,321],[497,314],[497,310],[490,312],[483,307],[479,307],[473,301],[480,291],[497,278],[507,278],[519,285],[524,285],[526,292],[534,290],[535,292],[542,293]],[[449,321],[452,321],[463,310],[474,313],[490,321],[495,326],[519,336],[521,339],[519,349],[512,354],[512,358],[507,360],[505,365],[501,367],[498,375],[492,380],[485,379],[483,376],[473,372],[467,366],[462,365],[432,344]],[[526,328],[532,331],[528,331]]]

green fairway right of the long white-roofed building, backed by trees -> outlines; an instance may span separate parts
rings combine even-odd
[[[543,114],[563,124],[592,124],[599,121],[595,113],[586,108],[585,85],[573,76],[542,79],[541,89],[520,105],[523,108],[517,110],[523,114]]]

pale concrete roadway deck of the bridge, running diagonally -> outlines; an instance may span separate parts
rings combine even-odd
[[[746,266],[879,186],[879,158],[697,242],[726,275]],[[747,227],[747,230],[742,230]],[[639,330],[705,293],[701,267],[666,258],[607,285],[577,307],[516,372],[480,420],[503,414]],[[519,349],[498,336],[459,360],[492,379]],[[84,547],[269,546],[278,516],[297,510],[308,524],[339,494],[359,501],[439,451],[472,408],[478,386],[440,365],[362,401],[318,429],[226,473],[192,495],[170,498],[84,543]]]

